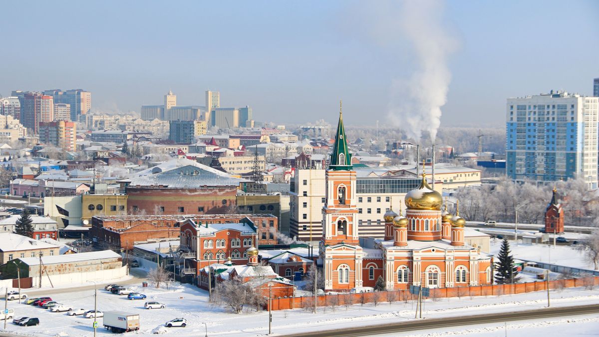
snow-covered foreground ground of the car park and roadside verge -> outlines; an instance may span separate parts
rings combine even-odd
[[[167,335],[177,336],[203,336],[205,335],[204,322],[207,325],[208,336],[257,336],[268,333],[268,313],[256,312],[253,308],[246,308],[242,314],[232,314],[226,309],[208,305],[207,292],[192,285],[177,285],[173,290],[155,288],[137,288],[138,291],[148,296],[148,300],[158,300],[167,305],[165,309],[147,310],[143,308],[145,300],[127,300],[125,296],[117,296],[104,290],[98,291],[98,309],[119,310],[140,314],[141,330],[127,333],[131,336],[150,336],[152,330],[166,321],[177,317],[186,318],[189,326],[184,328],[164,328]],[[55,296],[51,291],[47,293],[53,299],[75,308],[93,309],[93,291],[73,291],[72,293],[58,293]],[[599,303],[599,291],[570,288],[562,291],[551,291],[552,306],[584,305],[585,303]],[[543,308],[546,305],[546,293],[536,293],[489,296],[489,297],[455,297],[439,299],[437,302],[425,300],[423,316],[427,318],[450,317],[454,315],[474,315],[482,312],[518,311],[533,308]],[[8,303],[8,308],[14,308],[17,317],[28,316],[40,318],[40,326],[19,327],[8,324],[8,330],[23,335],[35,336],[91,336],[93,335],[91,318],[81,316],[71,317],[66,313],[53,313],[42,308],[19,304],[16,301]],[[304,331],[337,329],[343,327],[363,326],[367,324],[385,324],[402,320],[413,320],[415,303],[387,302],[374,306],[372,303],[353,305],[349,308],[338,306],[335,309],[326,307],[318,308],[316,315],[302,309],[284,310],[273,312],[273,332],[277,335],[297,333]],[[579,318],[576,318],[579,319]],[[598,318],[599,319],[599,318]],[[112,333],[103,329],[102,318],[98,318],[99,336],[111,336]],[[586,321],[580,321],[583,323]],[[530,322],[510,322],[509,325],[518,326]],[[583,326],[591,326],[583,324]],[[561,323],[559,323],[561,324]],[[557,325],[559,325],[557,324]],[[565,324],[565,323],[564,323]],[[596,324],[596,322],[594,323]],[[494,324],[498,326],[501,324]],[[568,324],[571,330],[577,330],[577,324]],[[499,332],[491,329],[489,335]],[[1,326],[0,326],[1,327]],[[576,327],[576,328],[573,328]],[[468,330],[473,327],[455,327],[450,330]],[[495,329],[495,330],[493,330]],[[519,327],[515,327],[520,331]],[[524,328],[522,328],[524,329]],[[533,329],[533,327],[531,327]],[[449,331],[444,329],[443,332]],[[579,331],[579,330],[577,330]],[[485,332],[485,333],[487,333]],[[475,332],[473,332],[475,333]],[[478,335],[478,332],[475,333]],[[509,334],[511,335],[511,334]],[[534,335],[534,334],[533,334]],[[550,335],[550,334],[549,334]],[[570,334],[571,335],[571,334]]]

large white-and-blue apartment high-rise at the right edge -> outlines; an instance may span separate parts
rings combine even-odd
[[[597,188],[598,100],[561,91],[508,98],[507,176],[539,183],[582,178]]]

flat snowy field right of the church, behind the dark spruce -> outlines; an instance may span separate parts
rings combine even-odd
[[[491,239],[491,254],[497,255],[503,240]],[[515,258],[533,260],[560,266],[593,269],[593,264],[585,260],[576,246],[553,246],[544,244],[526,244],[510,241],[510,249]]]

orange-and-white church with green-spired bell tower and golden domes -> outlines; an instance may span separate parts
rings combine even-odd
[[[360,237],[356,171],[341,110],[325,179],[319,246],[325,290],[374,287],[379,276],[387,290],[492,284],[492,255],[464,243],[465,219],[459,207],[455,215],[447,206],[442,211],[443,198],[430,188],[426,174],[420,186],[406,194],[405,213],[400,208],[399,214],[389,209],[383,215],[384,239]]]

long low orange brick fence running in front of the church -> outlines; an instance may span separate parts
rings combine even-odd
[[[494,285],[474,285],[471,287],[455,288],[436,288],[431,289],[428,299],[442,297],[462,297],[462,296],[499,296],[509,294],[531,293],[533,291],[572,287],[589,287],[599,285],[599,276],[588,276],[586,278],[558,279],[553,281],[537,281],[516,284],[494,284]],[[317,306],[340,306],[346,304],[360,304],[373,302],[393,302],[403,300],[415,300],[416,295],[412,295],[407,290],[377,291],[375,293],[361,294],[338,294],[316,296]],[[273,298],[273,310],[313,308],[314,296],[304,297],[278,297]],[[268,302],[264,306],[268,310]]]

